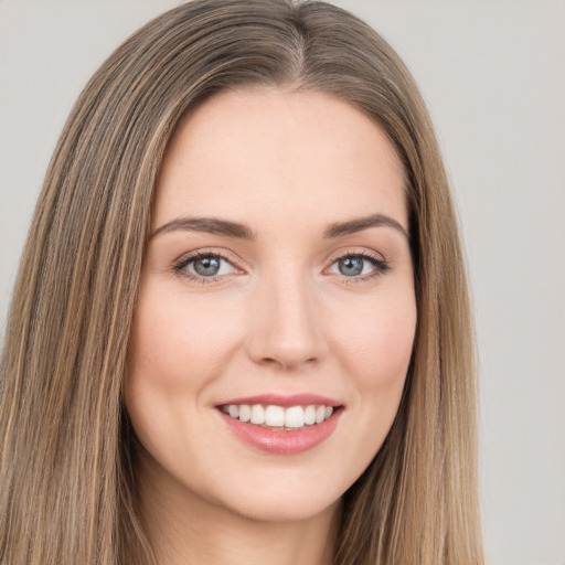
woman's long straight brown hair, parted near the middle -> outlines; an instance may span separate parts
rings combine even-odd
[[[354,105],[403,162],[418,327],[385,444],[344,494],[340,565],[482,563],[468,290],[441,157],[413,78],[323,2],[194,0],[99,68],[61,135],[1,361],[0,562],[150,563],[121,379],[159,167],[180,118],[249,85]]]

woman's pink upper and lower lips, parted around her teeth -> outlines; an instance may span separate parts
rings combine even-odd
[[[233,398],[217,406],[230,404],[262,404],[264,406],[275,404],[284,407],[323,405],[334,408],[341,406],[341,403],[332,398],[315,394],[248,396],[245,398]],[[312,449],[332,434],[342,412],[342,409],[335,409],[331,417],[321,424],[313,424],[294,430],[281,430],[263,428],[247,422],[241,422],[218,411],[227,427],[239,439],[252,447],[273,455],[298,455]]]

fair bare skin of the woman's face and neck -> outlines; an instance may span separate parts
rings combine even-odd
[[[222,93],[180,124],[157,188],[125,382],[160,564],[331,562],[340,498],[391,428],[413,349],[403,183],[383,131],[324,94]],[[398,226],[324,236],[372,214]],[[254,239],[162,227],[194,216],[243,223]],[[193,252],[227,262],[199,277],[194,263],[179,267]],[[361,258],[363,274],[344,276],[348,253],[387,270]],[[266,393],[321,394],[344,408],[315,448],[266,454],[217,409]]]

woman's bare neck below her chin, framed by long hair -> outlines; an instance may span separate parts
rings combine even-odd
[[[263,521],[178,484],[139,477],[141,518],[158,565],[331,565],[341,501],[301,520]]]

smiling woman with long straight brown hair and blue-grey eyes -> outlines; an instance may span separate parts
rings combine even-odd
[[[2,359],[2,563],[476,564],[448,184],[391,47],[196,0],[95,74]]]

